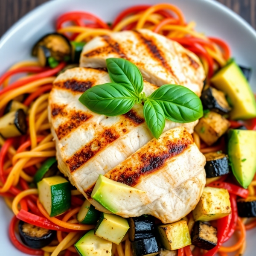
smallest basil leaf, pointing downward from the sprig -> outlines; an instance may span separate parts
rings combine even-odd
[[[165,126],[165,116],[161,106],[152,99],[146,99],[143,107],[145,121],[155,138],[159,138]]]

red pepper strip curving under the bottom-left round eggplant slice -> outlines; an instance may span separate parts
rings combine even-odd
[[[23,244],[20,243],[20,241],[16,238],[15,236],[15,225],[17,223],[18,219],[16,216],[12,218],[12,221],[9,226],[9,236],[12,241],[12,244],[21,252],[29,254],[29,255],[44,255],[43,250],[35,250],[31,249],[29,247],[24,246]]]

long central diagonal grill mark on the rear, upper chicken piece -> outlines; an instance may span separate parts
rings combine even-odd
[[[152,41],[149,38],[145,38],[145,36],[143,36],[140,32],[138,31],[134,31],[137,33],[137,36],[140,38],[141,41],[143,41],[143,43],[146,45],[146,47],[148,48],[148,51],[151,53],[151,55],[157,59],[161,65],[168,70],[172,76],[175,77],[175,79],[177,79],[177,77],[175,76],[172,67],[169,66],[169,64],[167,63],[166,59],[164,58],[164,53],[157,48],[157,45],[154,43],[154,41]]]

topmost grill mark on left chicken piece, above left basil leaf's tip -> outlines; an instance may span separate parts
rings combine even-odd
[[[84,93],[86,90],[90,89],[94,83],[95,81],[92,80],[78,81],[76,79],[71,79],[64,82],[57,82],[54,85],[62,89],[71,90],[73,92]]]

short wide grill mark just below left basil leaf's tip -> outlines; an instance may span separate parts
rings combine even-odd
[[[70,134],[70,132],[84,124],[84,122],[90,119],[90,117],[92,117],[92,115],[89,113],[75,110],[69,111],[68,121],[55,129],[58,139],[61,140],[62,138],[66,137],[68,134]]]

